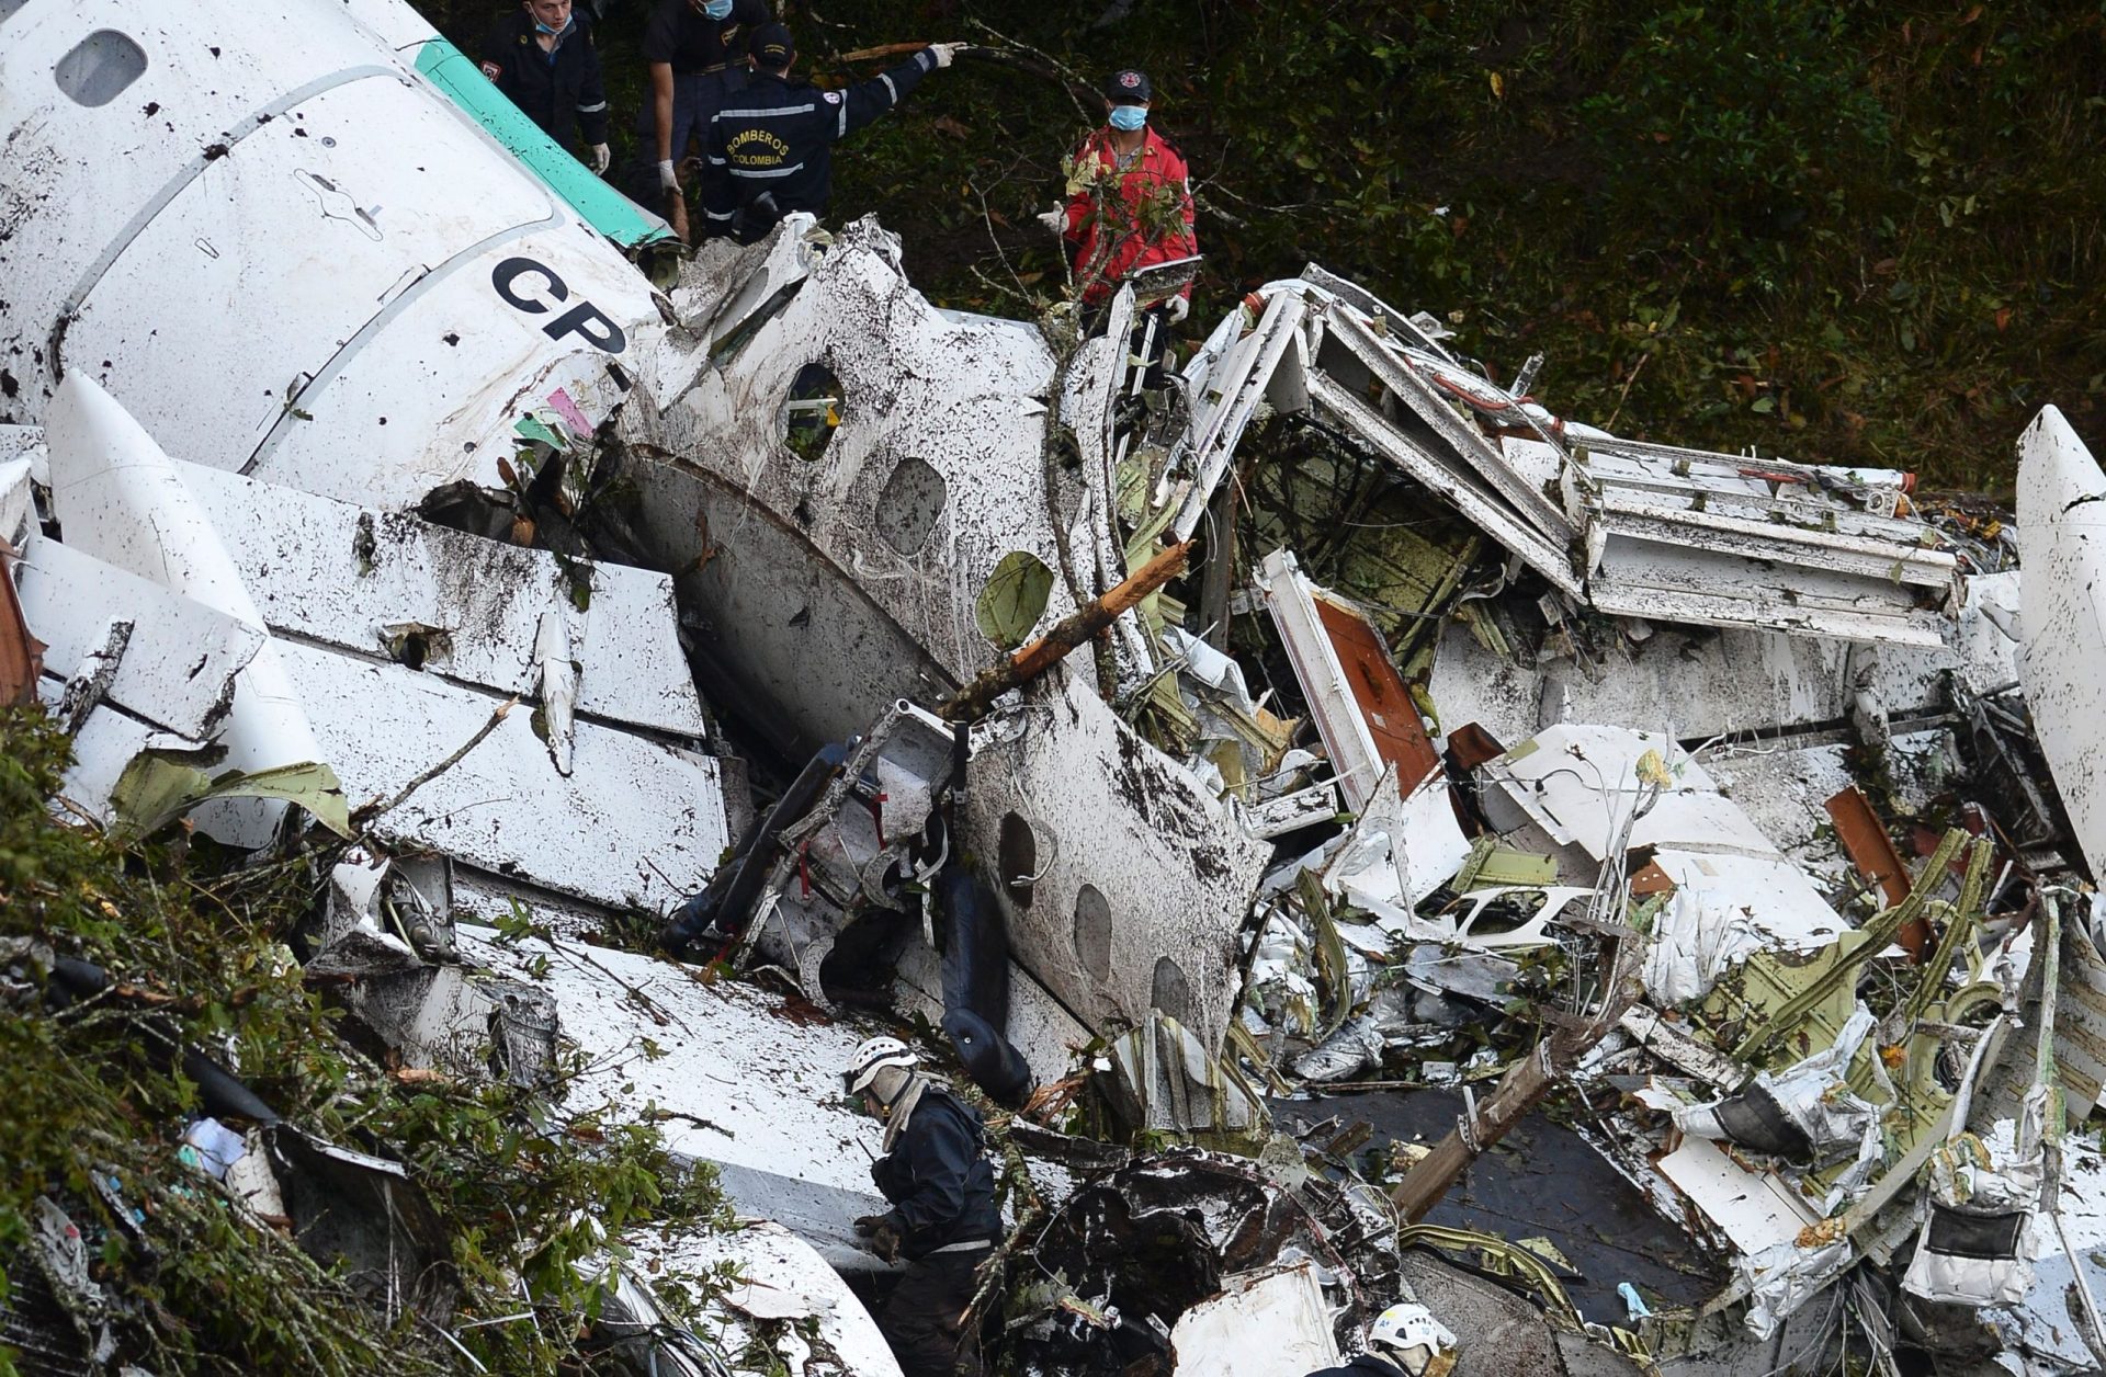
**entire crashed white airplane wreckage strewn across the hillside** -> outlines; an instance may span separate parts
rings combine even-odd
[[[579,1049],[718,1166],[746,1225],[632,1257],[739,1289],[623,1268],[636,1371],[897,1371],[828,1086],[901,1019],[1002,1105],[1009,1371],[1398,1299],[1457,1373],[2106,1364],[2060,413],[1999,518],[1561,417],[1320,267],[1148,390],[1131,286],[678,257],[406,6],[267,8],[0,4],[4,686],[67,817],[356,832],[307,971],[404,1065]],[[234,1091],[234,1200],[404,1175]]]

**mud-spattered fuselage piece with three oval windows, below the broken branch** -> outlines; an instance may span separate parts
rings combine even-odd
[[[1093,1027],[1160,1009],[1219,1046],[1270,846],[1070,665],[998,720],[973,771],[1005,781],[969,794],[962,844],[1000,861],[1015,958]]]

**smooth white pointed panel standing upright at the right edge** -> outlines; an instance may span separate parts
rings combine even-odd
[[[2018,440],[2020,678],[2070,830],[2106,876],[2106,474],[2053,406]]]

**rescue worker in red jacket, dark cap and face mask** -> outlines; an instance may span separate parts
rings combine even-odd
[[[1040,215],[1074,255],[1082,310],[1101,318],[1118,284],[1154,263],[1198,253],[1192,234],[1192,181],[1184,154],[1148,124],[1154,86],[1146,72],[1114,72],[1104,86],[1108,118],[1074,152],[1066,206]],[[1186,284],[1156,310],[1169,324],[1192,310]]]

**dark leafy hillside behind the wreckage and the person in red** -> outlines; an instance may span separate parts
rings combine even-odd
[[[647,8],[600,25],[632,112]],[[2098,4],[783,8],[823,82],[897,61],[832,57],[885,42],[1002,53],[836,160],[834,215],[876,211],[948,305],[1059,291],[1032,215],[1099,118],[1089,91],[1139,65],[1200,183],[1194,324],[1316,259],[1453,320],[1502,379],[1546,354],[1546,404],[1634,436],[1990,491],[2045,402],[2106,440]],[[470,40],[491,13],[425,11]]]

